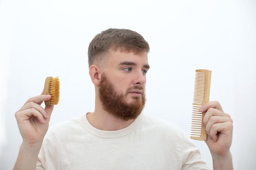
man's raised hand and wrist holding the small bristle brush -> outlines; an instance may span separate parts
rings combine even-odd
[[[35,170],[39,150],[49,127],[49,120],[54,106],[41,107],[51,95],[31,97],[15,113],[18,128],[22,136],[22,144],[14,170]]]

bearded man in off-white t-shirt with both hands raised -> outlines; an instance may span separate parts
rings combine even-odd
[[[16,112],[23,138],[17,170],[208,170],[177,127],[141,111],[145,104],[148,43],[127,29],[108,29],[88,48],[95,110],[52,127],[50,95],[31,97]],[[232,119],[218,102],[200,108],[214,170],[233,170]],[[46,134],[47,132],[47,134]],[[46,134],[46,135],[45,135]]]

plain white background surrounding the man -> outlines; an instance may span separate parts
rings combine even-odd
[[[22,143],[14,113],[41,93],[45,77],[61,82],[50,126],[94,110],[87,49],[108,28],[132,29],[148,41],[144,113],[188,137],[195,69],[211,70],[210,100],[234,120],[234,168],[255,167],[256,1],[1,0],[0,170],[13,168]],[[193,142],[212,168],[204,141]]]

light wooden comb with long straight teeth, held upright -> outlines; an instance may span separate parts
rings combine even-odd
[[[209,102],[211,85],[211,71],[195,71],[195,87],[193,96],[192,120],[191,120],[191,139],[206,140],[207,132],[205,130],[203,119],[206,112],[200,112],[199,108]]]

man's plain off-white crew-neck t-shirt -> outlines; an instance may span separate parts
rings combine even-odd
[[[94,128],[86,114],[49,129],[37,170],[209,170],[180,128],[141,114],[121,130]]]

